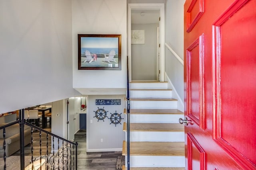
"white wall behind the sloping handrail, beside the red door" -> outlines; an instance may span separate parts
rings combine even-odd
[[[184,59],[184,2],[185,0],[166,0],[165,41],[182,59]],[[184,67],[168,48],[165,50],[165,55],[166,76],[171,80],[184,104]]]

